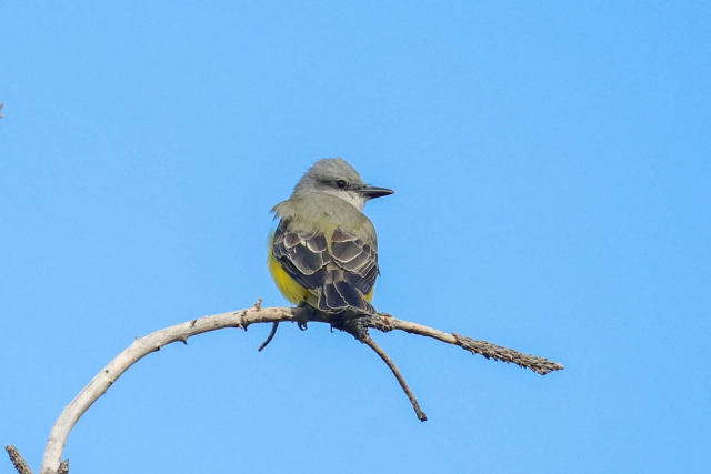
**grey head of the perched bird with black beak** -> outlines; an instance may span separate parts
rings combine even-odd
[[[368,201],[394,191],[365,184],[358,171],[342,158],[319,160],[303,174],[293,194],[321,192],[331,194],[362,210]]]

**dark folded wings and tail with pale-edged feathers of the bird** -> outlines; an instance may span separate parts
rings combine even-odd
[[[318,292],[318,310],[338,313],[375,310],[365,300],[378,278],[375,245],[341,230],[333,232],[331,251],[326,236],[288,229],[286,219],[274,233],[272,252],[284,271],[301,286]]]

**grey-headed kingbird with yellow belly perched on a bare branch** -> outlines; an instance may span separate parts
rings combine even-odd
[[[362,210],[393,192],[365,184],[341,158],[317,161],[272,209],[280,221],[269,239],[269,271],[284,297],[327,314],[374,314],[378,238]]]

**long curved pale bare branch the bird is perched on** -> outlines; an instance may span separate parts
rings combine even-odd
[[[332,324],[331,319],[318,312],[310,311],[306,307],[260,307],[261,301],[258,301],[254,306],[248,310],[231,311],[228,313],[214,314],[211,316],[200,317],[198,320],[188,321],[181,324],[176,324],[170,327],[156,331],[144,337],[136,339],[133,343],[121,352],[116,359],[94,376],[91,382],[71,401],[69,405],[62,411],[61,415],[54,423],[52,431],[47,442],[44,456],[42,458],[41,474],[67,474],[68,465],[60,465],[62,452],[67,444],[69,433],[73,428],[79,418],[89,410],[89,407],[101,396],[134,363],[144,357],[146,355],[159,351],[167,344],[173,342],[187,343],[189,337],[193,335],[202,334],[210,331],[217,331],[227,327],[239,327],[247,330],[251,324],[259,323],[281,323],[281,322],[296,322],[299,326],[304,326],[307,322],[320,322]],[[473,353],[481,354],[487,359],[494,359],[504,362],[513,362],[522,367],[531,369],[534,372],[545,375],[549,372],[563,369],[561,364],[548,361],[543,357],[537,357],[532,355],[522,354],[520,352],[501,347],[485,341],[474,341],[469,337],[464,337],[457,334],[444,333],[442,331],[428,327],[421,324],[411,323],[408,321],[398,320],[389,314],[381,313],[372,316],[363,316],[358,319],[358,324],[365,331],[367,340],[370,336],[367,333],[367,329],[375,329],[382,332],[389,332],[393,330],[404,331],[410,334],[422,335],[432,337],[449,344],[459,345],[462,349]],[[333,324],[334,327],[347,331],[346,326],[339,327]],[[272,331],[274,331],[272,326]],[[352,333],[351,333],[352,334]],[[360,340],[360,339],[359,339]],[[363,342],[369,344],[364,340]],[[399,373],[394,363],[388,357],[388,355],[371,341],[370,347],[373,349],[380,355],[380,357],[388,364],[393,372],[400,385],[405,391],[418,416],[423,420],[424,413],[419,410],[417,400],[412,395],[412,392],[408,389],[402,375]],[[8,451],[10,453],[10,451]],[[17,452],[17,450],[16,450]],[[12,454],[11,454],[12,456]],[[21,458],[21,456],[20,456]],[[13,461],[14,463],[14,461]],[[29,471],[31,472],[31,471]],[[24,474],[24,473],[21,473]]]

